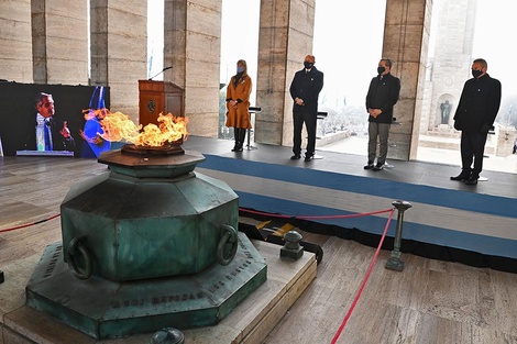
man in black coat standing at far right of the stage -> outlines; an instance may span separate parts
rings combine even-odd
[[[483,169],[483,154],[488,131],[501,106],[501,82],[486,74],[488,65],[477,58],[472,63],[472,79],[465,81],[454,114],[454,129],[461,131],[461,173],[451,180],[476,185]],[[474,167],[472,168],[472,162]]]

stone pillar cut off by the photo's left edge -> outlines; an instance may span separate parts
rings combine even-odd
[[[0,79],[32,82],[31,0],[0,1]]]

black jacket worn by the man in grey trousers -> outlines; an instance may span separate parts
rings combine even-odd
[[[369,122],[392,123],[393,107],[398,101],[400,93],[400,80],[391,73],[380,76],[370,81],[369,92],[366,95],[366,110],[381,109],[382,113],[376,118],[369,116]]]

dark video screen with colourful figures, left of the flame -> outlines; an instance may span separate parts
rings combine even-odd
[[[0,82],[0,144],[4,156],[96,158],[101,140],[91,110],[109,109],[109,88]]]

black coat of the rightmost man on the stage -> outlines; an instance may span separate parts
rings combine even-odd
[[[465,81],[454,114],[454,127],[469,133],[486,134],[501,106],[501,82],[485,74]]]

